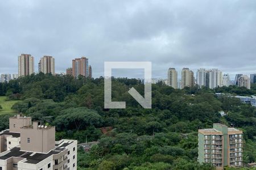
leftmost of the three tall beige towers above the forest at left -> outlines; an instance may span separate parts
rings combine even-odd
[[[19,76],[26,76],[34,73],[34,57],[31,54],[21,54],[18,57]]]

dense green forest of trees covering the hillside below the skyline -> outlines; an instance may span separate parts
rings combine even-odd
[[[33,120],[56,126],[56,140],[99,141],[89,152],[79,150],[79,169],[214,169],[197,163],[197,130],[212,128],[214,122],[242,129],[244,163],[256,161],[256,108],[214,95],[254,95],[255,84],[251,90],[236,86],[175,90],[159,82],[152,84],[152,109],[143,109],[128,94],[131,87],[143,94],[139,80],[113,78],[112,100],[126,101],[126,109],[104,109],[102,77],[33,74],[0,83],[0,96],[17,100],[13,109]],[[220,111],[227,116],[221,117]],[[8,127],[10,116],[0,115],[0,130]],[[112,130],[102,134],[102,127]]]

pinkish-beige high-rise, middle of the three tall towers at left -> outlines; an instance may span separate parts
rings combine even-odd
[[[55,59],[52,56],[44,56],[38,63],[38,73],[51,73],[55,74]]]

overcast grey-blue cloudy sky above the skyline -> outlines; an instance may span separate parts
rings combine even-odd
[[[89,58],[93,77],[105,61],[151,61],[169,67],[256,73],[256,1],[0,1],[0,73],[18,73],[21,53],[55,57],[56,73]],[[141,76],[141,71],[115,71]],[[130,75],[127,75],[130,74]],[[143,74],[143,71],[142,71]]]

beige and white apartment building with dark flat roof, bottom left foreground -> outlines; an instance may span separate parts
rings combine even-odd
[[[0,170],[77,169],[77,141],[55,142],[55,127],[10,118],[10,129],[0,133]]]

